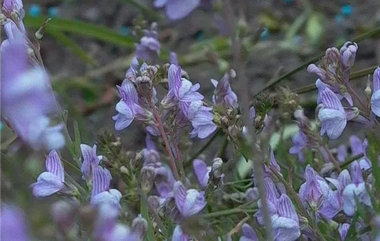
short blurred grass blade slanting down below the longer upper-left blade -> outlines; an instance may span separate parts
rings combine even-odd
[[[46,31],[46,33],[53,36],[55,39],[57,39],[57,41],[66,46],[74,54],[77,54],[77,56],[79,56],[86,63],[89,63],[93,67],[97,65],[95,61],[90,56],[88,56],[87,53],[79,45],[77,45],[77,43],[75,43],[75,41],[70,39],[65,34],[53,29],[49,29],[48,31]]]

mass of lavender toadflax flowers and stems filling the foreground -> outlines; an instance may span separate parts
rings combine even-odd
[[[1,143],[0,171],[10,167],[18,174],[19,160],[9,160],[26,147],[45,162],[45,170],[33,174],[37,181],[26,185],[28,193],[32,200],[53,200],[44,214],[53,222],[28,224],[28,215],[12,203],[25,197],[5,175],[0,187],[12,198],[1,197],[1,240],[379,239],[380,67],[370,68],[367,98],[360,97],[351,83],[359,44],[328,48],[321,61],[307,67],[317,76],[312,119],[292,90],[249,95],[240,51],[246,46],[240,43],[257,33],[240,28],[243,20],[235,21],[231,1],[222,3],[233,61],[215,76],[220,81],[207,81],[210,100],[181,65],[180,54],[171,52],[170,63],[162,56],[167,51],[158,23],[144,30],[137,26],[134,57],[115,86],[120,99],[109,116],[116,132],[87,145],[75,124],[75,139],[70,136],[67,112],[39,53],[49,23],[28,39],[22,1],[1,3],[6,39],[0,50],[0,114],[20,144],[17,149]],[[213,1],[153,3],[171,20],[211,4],[218,7]],[[297,131],[288,141],[283,136],[290,120]],[[350,122],[364,127],[365,138],[359,132],[361,137],[342,138]],[[132,125],[142,125],[145,144],[126,151],[117,135]],[[279,133],[280,142],[270,145],[269,138]],[[207,154],[220,138],[217,153]],[[200,151],[183,145],[197,139],[205,143]],[[236,171],[241,163],[248,170],[243,176]]]

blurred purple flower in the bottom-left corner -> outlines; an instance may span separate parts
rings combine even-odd
[[[6,203],[0,207],[0,240],[31,240],[21,209]]]

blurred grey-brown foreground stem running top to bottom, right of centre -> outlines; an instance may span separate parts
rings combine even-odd
[[[235,2],[234,2],[235,3]],[[241,4],[239,1],[238,3]],[[267,233],[267,240],[271,241],[273,239],[272,234],[272,222],[269,216],[269,209],[267,205],[267,193],[265,193],[264,187],[264,176],[263,176],[263,151],[256,146],[256,133],[254,127],[251,125],[249,118],[249,86],[247,76],[245,76],[245,65],[242,63],[241,59],[241,39],[236,37],[236,19],[234,16],[234,10],[231,6],[231,0],[225,0],[225,17],[227,20],[227,28],[229,30],[229,35],[231,37],[231,51],[232,51],[232,60],[233,65],[237,74],[237,83],[238,83],[238,96],[239,96],[239,105],[243,114],[243,123],[248,128],[248,133],[251,138],[252,153],[254,153],[254,170],[255,176],[258,185],[258,193],[263,205],[263,216],[265,223],[265,230]]]

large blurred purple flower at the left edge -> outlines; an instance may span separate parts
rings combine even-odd
[[[1,114],[33,149],[63,147],[63,125],[51,127],[48,118],[57,112],[48,75],[41,67],[30,63],[24,39],[17,36],[6,45],[3,42],[0,54]]]

